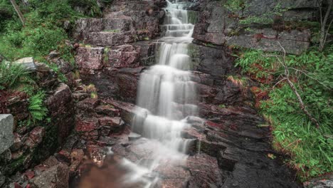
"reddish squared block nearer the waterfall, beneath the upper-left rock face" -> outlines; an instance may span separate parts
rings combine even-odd
[[[107,53],[109,63],[114,68],[137,67],[139,66],[140,48],[132,45],[122,45],[112,48]]]

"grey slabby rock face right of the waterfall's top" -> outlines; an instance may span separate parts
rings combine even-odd
[[[317,12],[315,1],[246,1],[243,11],[230,11],[225,5],[226,1],[200,4],[199,23],[194,28],[197,41],[281,51],[279,42],[287,53],[295,54],[306,51],[310,46],[310,32],[304,28],[287,27],[285,21],[314,20],[313,15]],[[288,10],[282,11],[285,8]],[[282,18],[277,18],[275,11],[282,11]],[[268,23],[254,21],[252,25],[242,24],[243,20],[256,17],[268,20]]]

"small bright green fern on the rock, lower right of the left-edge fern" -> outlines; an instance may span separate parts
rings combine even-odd
[[[33,95],[29,99],[28,110],[31,114],[33,122],[36,122],[36,120],[44,120],[48,114],[48,109],[43,105],[45,97],[45,93],[43,91],[39,91],[36,95]]]

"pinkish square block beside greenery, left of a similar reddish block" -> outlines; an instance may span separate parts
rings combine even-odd
[[[75,63],[79,69],[100,70],[103,67],[102,47],[80,47],[77,49]]]

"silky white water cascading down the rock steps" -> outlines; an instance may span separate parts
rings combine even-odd
[[[197,115],[196,87],[191,81],[188,45],[194,25],[189,23],[187,11],[180,1],[167,1],[165,8],[165,36],[159,46],[157,65],[142,73],[139,80],[136,115],[132,131],[147,138],[153,162],[144,167],[124,160],[133,169],[128,179],[144,182],[144,187],[153,187],[154,180],[147,179],[149,173],[162,162],[185,162],[188,145],[193,140],[181,138],[181,130],[190,125],[184,120]]]

